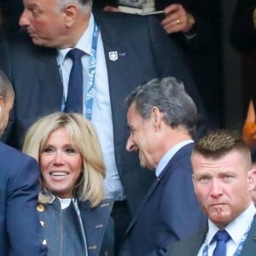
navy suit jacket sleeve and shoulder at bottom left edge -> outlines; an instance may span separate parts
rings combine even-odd
[[[35,210],[38,164],[15,148],[0,143],[0,255],[46,255]]]

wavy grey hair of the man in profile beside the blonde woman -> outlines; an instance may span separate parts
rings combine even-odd
[[[182,82],[173,77],[152,79],[147,84],[139,85],[125,100],[127,107],[136,104],[137,112],[148,119],[154,107],[164,113],[166,125],[172,128],[183,125],[192,135],[197,122],[195,102],[184,90]]]

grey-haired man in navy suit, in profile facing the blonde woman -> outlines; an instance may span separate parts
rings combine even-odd
[[[126,149],[156,178],[125,234],[120,255],[148,255],[207,224],[195,198],[190,155],[195,103],[177,79],[154,79],[127,98]]]

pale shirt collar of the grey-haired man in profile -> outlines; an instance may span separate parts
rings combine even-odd
[[[156,170],[155,170],[156,177],[160,176],[160,173],[165,169],[166,165],[172,159],[173,155],[176,154],[177,151],[180,148],[183,148],[185,145],[187,145],[189,143],[194,143],[194,141],[193,140],[186,140],[186,141],[183,141],[182,143],[177,143],[177,145],[175,145],[174,147],[172,147],[171,149],[169,149],[166,152],[166,154],[162,157],[162,159],[160,160],[160,162],[156,166]]]

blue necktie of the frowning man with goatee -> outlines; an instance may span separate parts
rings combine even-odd
[[[212,241],[217,241],[212,256],[226,256],[226,242],[230,240],[230,235],[226,230],[218,230]]]

